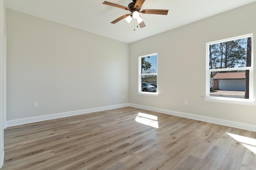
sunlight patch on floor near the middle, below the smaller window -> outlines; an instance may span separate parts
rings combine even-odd
[[[139,112],[135,118],[135,121],[144,125],[158,128],[157,116],[154,115]]]

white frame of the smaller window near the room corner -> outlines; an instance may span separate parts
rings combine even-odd
[[[141,73],[141,59],[143,57],[150,57],[150,56],[153,56],[153,55],[157,55],[157,72],[156,73],[147,73],[147,74],[142,74]],[[139,95],[146,95],[146,96],[158,96],[158,88],[156,90],[156,92],[142,92],[141,91],[141,76],[143,75],[156,75],[156,82],[158,82],[158,54],[157,53],[153,53],[153,54],[149,54],[149,55],[143,55],[143,56],[140,56],[139,57],[139,76],[138,76],[138,93]],[[157,83],[158,84],[158,83]],[[158,85],[157,85],[158,86]]]

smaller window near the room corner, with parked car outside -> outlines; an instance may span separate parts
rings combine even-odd
[[[138,94],[157,94],[157,53],[139,57]]]

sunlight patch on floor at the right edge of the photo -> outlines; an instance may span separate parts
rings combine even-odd
[[[244,147],[251,150],[256,154],[256,139],[250,138],[250,137],[244,137],[241,135],[235,135],[232,133],[227,133],[232,138],[234,138],[236,141],[241,142]]]

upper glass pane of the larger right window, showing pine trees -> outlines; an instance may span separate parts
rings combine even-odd
[[[252,37],[209,45],[209,69],[251,66]]]

